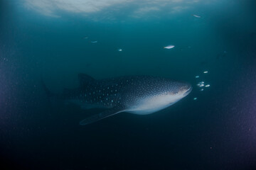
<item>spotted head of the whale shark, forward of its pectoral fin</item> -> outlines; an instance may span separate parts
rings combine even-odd
[[[130,113],[146,115],[160,111],[180,101],[192,91],[192,86],[180,81],[158,79],[147,81],[143,88],[134,89],[137,100],[128,109]]]

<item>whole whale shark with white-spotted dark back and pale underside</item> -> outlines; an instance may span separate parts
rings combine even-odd
[[[137,115],[155,113],[173,105],[192,91],[188,83],[162,77],[124,76],[97,80],[80,73],[78,79],[78,88],[64,89],[58,97],[82,109],[106,108],[102,113],[81,120],[80,125],[95,123],[122,112]],[[43,86],[48,96],[56,96]]]

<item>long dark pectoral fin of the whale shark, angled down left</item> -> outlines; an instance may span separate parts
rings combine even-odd
[[[90,123],[95,123],[98,120],[102,120],[104,118],[110,117],[111,115],[115,115],[117,113],[123,112],[120,108],[110,108],[107,111],[103,111],[102,113],[99,113],[97,115],[92,115],[88,118],[85,118],[84,120],[80,121],[80,125],[88,125]]]

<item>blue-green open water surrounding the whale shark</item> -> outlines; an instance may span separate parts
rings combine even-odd
[[[61,93],[79,73],[193,91],[80,126],[101,110],[50,101],[41,84]],[[0,0],[1,169],[256,169],[255,86],[256,1]]]

